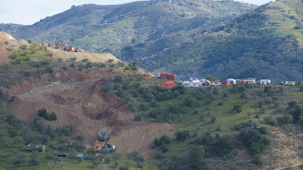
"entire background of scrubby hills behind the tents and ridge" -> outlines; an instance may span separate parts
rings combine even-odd
[[[18,38],[62,40],[91,52],[139,60],[143,68],[181,78],[214,75],[280,82],[303,79],[302,3],[278,0],[257,9],[231,0],[87,4],[34,25],[0,28]]]

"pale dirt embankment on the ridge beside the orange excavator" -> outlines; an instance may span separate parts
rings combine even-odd
[[[63,58],[64,61],[69,61],[71,57],[77,57],[76,61],[81,61],[87,58],[90,62],[108,62],[108,59],[113,59],[114,62],[121,61],[111,54],[97,54],[97,53],[75,53],[67,52],[60,49],[48,48],[48,52],[52,53],[52,59],[58,60],[58,58]]]

